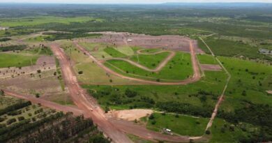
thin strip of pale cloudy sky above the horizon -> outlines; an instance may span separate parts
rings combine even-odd
[[[0,0],[0,3],[165,3],[165,2],[265,2],[272,0]]]

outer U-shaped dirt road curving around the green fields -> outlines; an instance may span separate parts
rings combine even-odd
[[[117,77],[121,77],[121,78],[127,79],[127,80],[135,80],[137,82],[142,82],[142,84],[153,84],[153,85],[184,85],[184,84],[190,84],[193,82],[197,82],[198,80],[200,80],[201,74],[200,74],[200,70],[199,70],[199,66],[198,66],[197,56],[195,54],[194,47],[192,47],[192,42],[191,41],[188,41],[188,42],[190,43],[190,54],[191,54],[192,68],[194,71],[194,75],[186,80],[181,80],[179,82],[154,82],[154,81],[150,81],[150,80],[138,79],[135,77],[127,77],[125,75],[121,75],[119,73],[116,73],[114,70],[107,68],[107,66],[105,66],[103,63],[98,61],[98,59],[93,57],[93,55],[91,55],[90,52],[87,51],[84,47],[79,45],[77,43],[77,41],[75,41],[75,40],[73,41],[73,43],[77,46],[77,48],[79,50],[81,50],[87,56],[89,56],[89,58],[91,58],[91,60],[93,60],[98,66],[100,66],[100,68],[103,68],[103,70],[105,70],[105,72],[107,72],[108,74],[116,75]]]

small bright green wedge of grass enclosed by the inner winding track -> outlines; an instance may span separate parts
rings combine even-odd
[[[130,57],[130,60],[135,61],[142,66],[146,66],[147,68],[154,69],[158,66],[160,62],[162,62],[165,58],[169,56],[169,52],[163,52],[159,54],[146,55],[146,54],[137,54],[133,57]]]

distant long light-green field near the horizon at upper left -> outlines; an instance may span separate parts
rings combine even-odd
[[[2,27],[19,27],[19,26],[33,26],[38,24],[61,23],[70,24],[71,22],[89,22],[98,21],[92,17],[54,17],[54,16],[38,16],[38,17],[22,17],[22,18],[3,18],[0,19]]]

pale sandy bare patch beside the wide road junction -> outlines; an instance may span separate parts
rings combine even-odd
[[[112,110],[108,112],[106,115],[111,118],[115,119],[123,119],[126,121],[135,121],[139,120],[140,118],[144,116],[148,116],[153,113],[153,110],[141,110],[141,109],[135,109],[135,110]]]

